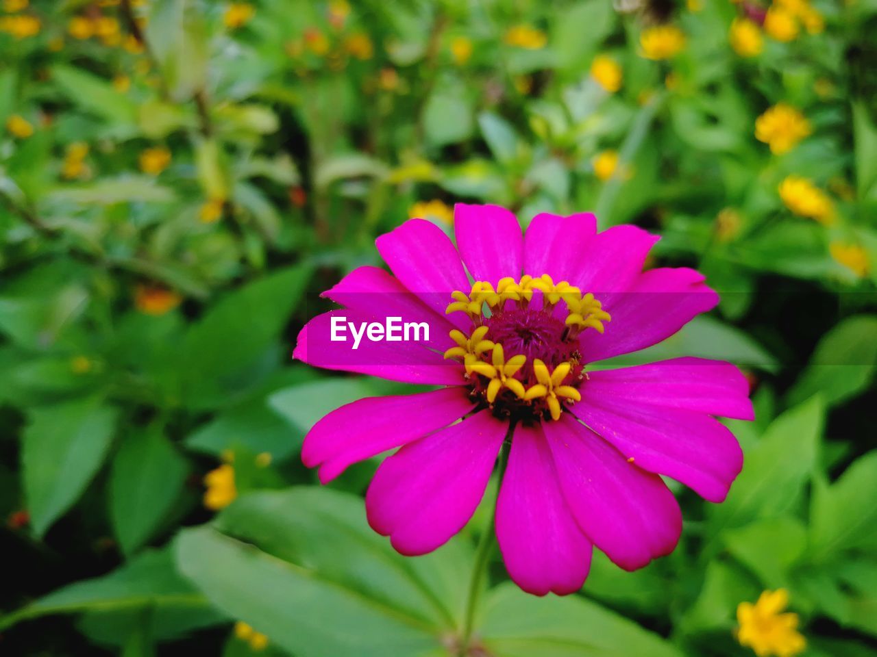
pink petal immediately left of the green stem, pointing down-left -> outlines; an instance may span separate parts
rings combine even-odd
[[[368,487],[368,523],[403,555],[439,548],[472,517],[507,430],[484,411],[399,449]]]

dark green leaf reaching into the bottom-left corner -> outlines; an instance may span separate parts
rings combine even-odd
[[[155,632],[158,636],[179,633],[187,626],[209,625],[222,618],[176,573],[170,551],[155,550],[144,552],[109,575],[69,584],[0,617],[0,629],[49,614],[87,612],[101,620],[127,619],[125,629],[117,627],[122,633],[116,638],[120,642],[130,632],[133,617],[126,614],[145,608],[153,610],[153,627],[160,629]]]

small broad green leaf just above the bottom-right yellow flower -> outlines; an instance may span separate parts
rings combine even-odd
[[[807,528],[792,517],[756,520],[730,529],[722,539],[739,562],[759,576],[766,589],[788,587],[789,569],[807,548]]]

